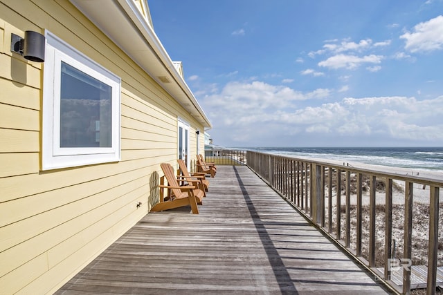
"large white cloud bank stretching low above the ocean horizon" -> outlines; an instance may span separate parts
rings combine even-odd
[[[343,86],[339,91],[347,91]],[[244,144],[278,145],[278,140],[309,135],[328,144],[357,138],[366,143],[379,138],[392,142],[408,140],[417,144],[443,143],[443,96],[418,100],[414,97],[346,97],[339,102],[316,106],[318,99],[332,94],[318,88],[309,93],[264,82],[226,84],[221,92],[201,100],[217,130],[211,135]],[[309,106],[302,106],[307,99]],[[219,142],[223,144],[222,142]],[[310,142],[304,141],[309,145]],[[242,144],[242,145],[240,145]],[[294,142],[293,144],[296,144]],[[365,144],[356,140],[354,144]]]

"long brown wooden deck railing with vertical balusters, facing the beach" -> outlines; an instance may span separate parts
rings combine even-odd
[[[318,229],[334,238],[338,245],[370,269],[377,279],[383,280],[399,293],[409,294],[411,279],[426,276],[422,278],[425,286],[427,285],[426,292],[435,294],[439,250],[439,195],[443,181],[255,151],[247,151],[246,163]],[[413,232],[416,227],[413,223],[414,189],[425,187],[429,202],[429,217],[426,221],[428,232]],[[392,203],[394,190],[395,193],[404,190],[404,204]],[[380,197],[381,191],[384,191],[384,202],[377,204],[376,193]],[[404,216],[401,225],[393,225],[393,211],[398,216]],[[377,219],[384,219],[384,229],[383,226],[376,227]],[[377,231],[381,233],[377,234]],[[402,240],[396,240],[393,231],[397,234],[400,231]],[[428,235],[427,245],[417,245],[415,235],[419,234]],[[440,248],[442,245],[440,239]],[[427,274],[424,267],[424,274],[411,274],[411,269],[414,269],[412,266],[417,264],[415,251],[425,247],[427,259],[422,260],[421,264],[427,265]],[[399,249],[403,249],[402,253],[397,254]],[[440,254],[442,250],[440,249]],[[418,263],[420,264],[420,260]],[[397,281],[396,284],[394,272],[401,272],[401,268],[403,274],[399,274],[400,282]],[[414,284],[413,287],[419,287]]]

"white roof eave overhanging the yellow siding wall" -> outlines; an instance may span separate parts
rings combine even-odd
[[[204,127],[212,125],[194,94],[175,68],[150,23],[143,17],[132,0],[70,0],[109,39],[114,41],[165,91],[196,117]],[[167,76],[172,81],[159,79]],[[186,97],[184,99],[183,97]],[[183,102],[187,100],[187,102]]]

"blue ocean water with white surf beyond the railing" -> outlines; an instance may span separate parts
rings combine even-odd
[[[443,147],[264,147],[253,151],[443,173]]]

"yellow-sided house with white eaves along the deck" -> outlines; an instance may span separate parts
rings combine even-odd
[[[26,30],[44,63],[11,51]],[[210,122],[145,0],[0,0],[0,34],[0,294],[52,293],[150,211],[162,162],[192,166]]]

